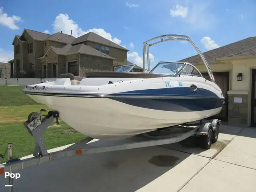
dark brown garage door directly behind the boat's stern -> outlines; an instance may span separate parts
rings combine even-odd
[[[218,118],[222,121],[228,121],[228,90],[229,90],[229,72],[214,72],[214,78],[216,80],[216,84],[222,90],[222,94],[225,97],[225,104],[222,107],[221,112],[214,116],[214,118]],[[207,80],[210,80],[210,76],[208,73],[202,73],[202,76]],[[211,117],[212,118],[212,117]]]

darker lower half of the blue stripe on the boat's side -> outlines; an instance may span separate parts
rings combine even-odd
[[[191,112],[204,111],[223,106],[221,98],[110,98],[128,105],[162,110]],[[136,110],[136,109],[135,109]]]

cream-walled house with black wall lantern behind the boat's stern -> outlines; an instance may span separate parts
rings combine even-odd
[[[230,125],[256,127],[256,37],[203,53],[226,98],[218,118]],[[194,64],[210,79],[199,55],[181,62]]]

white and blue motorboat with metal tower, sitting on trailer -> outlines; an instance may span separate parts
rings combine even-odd
[[[158,41],[150,43],[154,40]],[[210,80],[188,62],[160,61],[150,69],[149,48],[172,40],[194,46]],[[220,113],[222,90],[189,36],[162,35],[143,44],[143,72],[87,72],[83,77],[60,74],[55,81],[27,85],[23,92],[57,111],[78,132],[101,140],[129,138]]]

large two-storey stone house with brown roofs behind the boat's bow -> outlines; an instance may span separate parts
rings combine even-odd
[[[72,31],[71,31],[72,34]],[[14,46],[15,77],[58,77],[62,73],[83,76],[86,71],[112,71],[127,62],[126,48],[94,32],[78,38],[58,32],[45,34],[24,29],[16,35]]]

